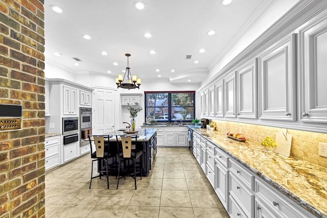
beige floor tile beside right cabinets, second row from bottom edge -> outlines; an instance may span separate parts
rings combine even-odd
[[[224,208],[215,191],[189,191],[193,208]]]

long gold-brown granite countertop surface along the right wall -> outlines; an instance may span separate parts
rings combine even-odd
[[[277,153],[265,153],[261,145],[238,142],[225,133],[192,129],[303,208],[317,217],[327,217],[327,168]]]

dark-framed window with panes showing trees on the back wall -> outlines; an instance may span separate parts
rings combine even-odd
[[[158,123],[192,122],[195,114],[195,91],[146,91],[145,117]]]

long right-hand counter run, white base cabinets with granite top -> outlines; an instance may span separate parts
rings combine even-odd
[[[326,168],[192,129],[193,154],[229,214],[327,217]]]

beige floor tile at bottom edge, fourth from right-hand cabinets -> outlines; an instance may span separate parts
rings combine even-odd
[[[123,217],[127,206],[95,206],[88,214],[87,218],[99,217]]]

